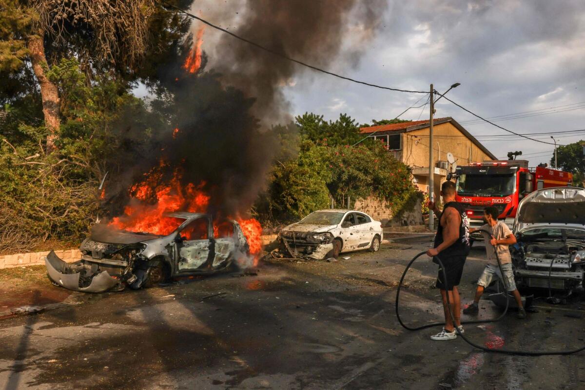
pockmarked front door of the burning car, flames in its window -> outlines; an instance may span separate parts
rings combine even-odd
[[[207,267],[211,253],[213,228],[211,220],[206,217],[191,221],[179,232],[177,242],[177,270],[187,272]]]

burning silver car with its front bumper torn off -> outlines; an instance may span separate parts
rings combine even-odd
[[[211,215],[167,213],[167,235],[129,232],[95,225],[81,243],[81,260],[65,263],[51,251],[45,258],[57,285],[84,292],[151,287],[167,278],[225,270],[250,255],[242,227],[235,220],[215,223]]]

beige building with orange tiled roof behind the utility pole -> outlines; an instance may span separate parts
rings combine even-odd
[[[394,123],[391,125],[362,127],[362,134],[379,139],[388,145],[390,153],[402,163],[412,167],[414,182],[423,192],[428,192],[429,177],[429,121]],[[452,166],[447,161],[452,153],[457,165],[469,165],[497,158],[472,134],[453,118],[438,118],[433,121],[433,166],[435,194],[446,180]]]

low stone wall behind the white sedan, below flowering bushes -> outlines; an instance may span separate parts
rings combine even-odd
[[[424,225],[420,200],[417,200],[412,210],[407,210],[402,213],[400,218],[394,217],[393,210],[388,206],[386,201],[374,198],[373,196],[356,201],[354,209],[366,213],[373,219],[379,220],[384,227]]]

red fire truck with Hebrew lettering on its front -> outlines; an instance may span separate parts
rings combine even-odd
[[[457,202],[463,203],[471,227],[483,225],[483,209],[495,206],[498,219],[512,226],[518,202],[532,191],[573,184],[573,174],[545,167],[528,168],[526,160],[490,160],[457,167]]]

